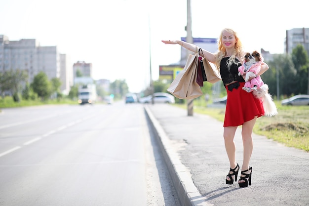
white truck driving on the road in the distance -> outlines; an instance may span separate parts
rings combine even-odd
[[[95,84],[86,84],[78,88],[78,103],[93,104],[97,100],[97,89]]]

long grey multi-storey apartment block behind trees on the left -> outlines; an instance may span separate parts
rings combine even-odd
[[[71,63],[65,54],[60,54],[57,46],[40,46],[35,39],[9,41],[8,37],[0,35],[0,72],[7,70],[25,70],[28,81],[43,71],[48,79],[59,78],[61,90],[67,93],[73,84]]]

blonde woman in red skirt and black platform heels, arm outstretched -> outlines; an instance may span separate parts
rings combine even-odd
[[[196,45],[185,41],[162,41],[165,44],[179,44],[184,48],[195,52]],[[258,117],[264,115],[264,108],[260,99],[242,89],[245,84],[244,76],[238,76],[238,67],[241,66],[245,52],[242,50],[241,41],[232,29],[224,29],[218,41],[218,51],[211,53],[202,49],[200,55],[216,65],[220,70],[222,81],[227,89],[228,99],[224,119],[224,142],[230,161],[230,172],[226,177],[227,184],[237,181],[239,165],[235,160],[234,136],[236,129],[242,125],[243,163],[241,175],[238,181],[239,187],[251,185],[252,167],[249,162],[253,150],[252,130]],[[258,75],[263,74],[269,67],[266,63],[261,66]],[[250,79],[249,79],[250,80]],[[248,107],[250,105],[250,107]]]

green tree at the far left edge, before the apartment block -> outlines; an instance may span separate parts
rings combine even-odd
[[[8,70],[0,75],[0,90],[9,91],[15,102],[20,101],[20,93],[27,82],[28,74],[25,70]]]

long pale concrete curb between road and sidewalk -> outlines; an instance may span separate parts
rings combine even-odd
[[[205,202],[205,198],[201,196],[195,187],[190,172],[181,163],[176,151],[171,145],[170,139],[159,122],[154,118],[148,106],[144,106],[144,109],[153,127],[155,137],[163,154],[169,174],[171,175],[181,206],[210,206],[210,204]]]

